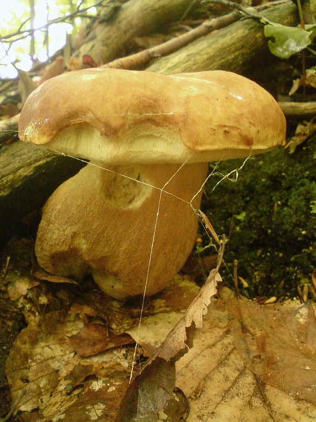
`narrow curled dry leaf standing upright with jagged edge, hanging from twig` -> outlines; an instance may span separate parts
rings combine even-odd
[[[176,422],[186,419],[189,413],[187,404],[175,395],[174,362],[192,347],[196,329],[202,327],[203,315],[219,281],[221,277],[216,268],[210,272],[199,294],[153,353],[141,374],[129,385],[116,422]]]

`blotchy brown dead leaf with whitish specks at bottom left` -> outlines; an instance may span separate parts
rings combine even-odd
[[[38,317],[18,335],[6,374],[13,402],[25,390],[19,405],[28,412],[25,420],[38,410],[34,420],[42,422],[82,422],[101,416],[113,421],[127,386],[131,352],[112,350],[82,359],[69,342],[69,336],[82,328],[77,314],[63,310]]]

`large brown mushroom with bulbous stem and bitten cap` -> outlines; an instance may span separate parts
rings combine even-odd
[[[91,271],[124,299],[162,290],[185,263],[207,162],[280,145],[285,118],[267,91],[234,73],[93,68],[33,91],[19,134],[90,160],[43,208],[39,264],[75,278]]]

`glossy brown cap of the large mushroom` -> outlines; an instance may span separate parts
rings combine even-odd
[[[285,118],[267,91],[235,73],[94,68],[39,86],[19,133],[108,164],[183,163],[269,151],[284,140]]]

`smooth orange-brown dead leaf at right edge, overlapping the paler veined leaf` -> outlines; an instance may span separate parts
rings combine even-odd
[[[310,304],[292,312],[227,300],[229,328],[245,365],[261,381],[316,405],[316,318]]]

